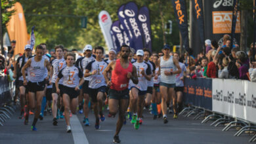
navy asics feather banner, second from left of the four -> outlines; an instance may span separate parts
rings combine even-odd
[[[125,45],[128,44],[128,46],[131,46],[132,48],[134,47],[134,43],[133,43],[133,34],[131,33],[131,29],[128,26],[127,20],[125,19],[125,15],[123,14],[123,8],[125,7],[125,5],[121,5],[121,7],[119,7],[118,11],[117,11],[117,16],[119,18],[120,21],[120,28],[122,30],[123,33],[123,38],[125,41]]]

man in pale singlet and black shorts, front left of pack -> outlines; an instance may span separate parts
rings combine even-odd
[[[36,131],[35,124],[41,111],[41,102],[45,90],[45,80],[50,78],[51,65],[48,60],[43,58],[43,47],[37,45],[35,48],[35,57],[28,60],[28,62],[22,67],[23,84],[28,84],[28,99],[30,109],[36,108],[35,117],[33,118],[32,130]],[[28,81],[26,80],[26,69],[28,68]],[[47,77],[45,75],[45,69],[48,70]],[[35,105],[35,100],[36,105]],[[26,115],[26,122],[28,122],[28,115]]]

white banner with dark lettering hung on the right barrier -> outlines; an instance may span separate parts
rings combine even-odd
[[[256,122],[256,83],[213,79],[213,111]]]

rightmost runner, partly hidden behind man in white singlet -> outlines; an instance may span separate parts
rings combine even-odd
[[[175,52],[173,54],[173,57],[176,58],[176,60],[179,62],[179,54]],[[175,92],[177,96],[177,113],[181,112],[182,110],[182,94],[184,91],[184,75],[186,75],[186,66],[184,63],[179,62],[179,65],[181,67],[181,73],[176,75],[176,86],[175,86]]]

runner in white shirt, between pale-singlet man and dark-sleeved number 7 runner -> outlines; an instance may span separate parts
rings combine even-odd
[[[58,122],[57,122],[57,102],[58,102],[58,94],[56,92],[56,86],[55,86],[55,81],[58,77],[58,73],[60,72],[60,69],[66,67],[66,61],[64,60],[63,54],[64,54],[64,46],[62,45],[57,45],[55,46],[55,54],[56,54],[56,59],[51,61],[52,64],[52,68],[51,71],[53,73],[51,82],[53,83],[53,91],[52,91],[52,97],[53,97],[53,104],[52,104],[52,111],[53,111],[53,125],[57,126]],[[60,79],[60,81],[58,81],[58,85],[60,87],[60,89],[62,88],[62,82],[63,79]]]

